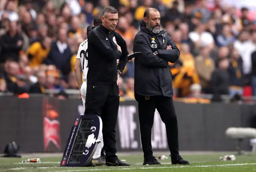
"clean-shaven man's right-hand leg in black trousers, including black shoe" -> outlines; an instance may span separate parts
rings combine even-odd
[[[102,109],[102,132],[104,148],[106,152],[106,166],[130,166],[130,164],[121,162],[116,156],[116,121],[119,109],[119,88],[118,85],[109,86],[109,94],[106,104]]]

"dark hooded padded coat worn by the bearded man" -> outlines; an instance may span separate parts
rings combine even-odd
[[[172,49],[166,50],[167,45]],[[134,39],[134,52],[142,52],[134,59],[134,93],[136,95],[173,96],[172,74],[168,61],[174,63],[180,56],[180,50],[173,43],[166,31],[154,34],[146,28],[146,23],[140,23],[140,32]],[[153,53],[158,51],[157,56]]]

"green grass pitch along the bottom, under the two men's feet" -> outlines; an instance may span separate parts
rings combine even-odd
[[[132,154],[119,156],[120,160],[126,160],[131,166],[128,167],[60,167],[61,156],[26,155],[22,158],[0,158],[0,172],[87,172],[87,171],[124,171],[124,172],[253,172],[256,171],[256,154],[236,156],[234,161],[220,161],[220,156],[234,154],[234,152],[211,153],[211,154],[184,154],[182,157],[191,162],[188,166],[171,165],[170,157],[167,160],[159,160],[162,165],[142,166],[143,155]],[[155,154],[158,155],[158,154]],[[166,154],[167,156],[168,154]],[[22,163],[28,158],[41,158],[40,163]]]

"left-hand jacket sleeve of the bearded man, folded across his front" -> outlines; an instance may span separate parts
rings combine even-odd
[[[137,55],[135,58],[145,66],[148,67],[168,67],[168,61],[159,58],[152,53],[150,46],[146,39],[137,34],[134,39],[133,52],[142,52],[143,54]]]

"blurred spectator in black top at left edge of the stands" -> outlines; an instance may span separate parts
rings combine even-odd
[[[9,27],[9,31],[0,39],[0,63],[5,62],[7,59],[18,61],[19,53],[22,49],[23,38],[18,33],[17,22],[10,22]]]

